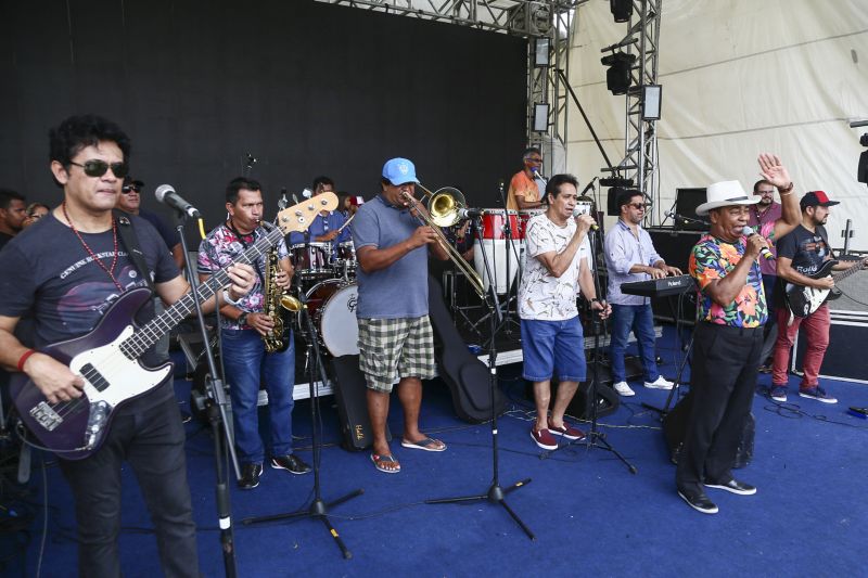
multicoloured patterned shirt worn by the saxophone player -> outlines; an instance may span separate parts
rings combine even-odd
[[[266,231],[261,227],[256,228],[253,233],[246,235],[235,234],[226,223],[215,227],[199,245],[199,273],[207,275],[229,266],[247,247],[265,235]],[[288,256],[286,244],[281,240],[278,243],[278,257],[283,259]],[[265,279],[266,272],[266,257],[260,257],[254,265],[254,269],[258,273],[257,279],[251,292],[238,301],[239,309],[248,313],[261,312],[265,307],[263,279]],[[240,325],[234,319],[224,316],[220,316],[220,327],[225,330],[251,329],[248,325]]]

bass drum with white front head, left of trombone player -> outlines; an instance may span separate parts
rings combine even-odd
[[[329,279],[310,287],[305,297],[310,319],[319,330],[319,341],[332,357],[359,355],[358,286],[342,279]]]

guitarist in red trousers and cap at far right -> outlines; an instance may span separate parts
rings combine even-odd
[[[822,191],[809,191],[800,201],[802,207],[802,224],[778,241],[778,278],[784,283],[796,285],[786,293],[789,307],[778,309],[778,341],[775,343],[774,363],[771,369],[771,399],[779,402],[787,401],[787,365],[790,362],[792,349],[799,327],[803,327],[803,335],[807,342],[804,358],[804,375],[799,385],[799,395],[816,399],[824,403],[837,403],[838,400],[826,393],[817,381],[817,375],[829,346],[829,326],[831,316],[829,306],[825,303],[817,309],[807,304],[807,309],[797,311],[793,307],[793,292],[796,294],[805,288],[808,293],[819,295],[820,301],[834,286],[834,280],[828,274],[829,270],[841,271],[857,266],[864,261],[847,264],[832,262],[834,254],[829,245],[829,235],[826,233],[829,207],[838,205],[838,201],[830,201]],[[780,299],[778,303],[781,303]],[[813,310],[812,310],[813,309]],[[793,311],[793,313],[791,313]],[[807,312],[805,316],[804,313]],[[791,321],[792,318],[792,321]]]

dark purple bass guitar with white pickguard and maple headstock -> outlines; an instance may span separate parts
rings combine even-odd
[[[238,257],[234,264],[255,264],[292,231],[305,231],[320,210],[337,208],[334,193],[322,193],[278,213],[277,227]],[[264,224],[265,227],[265,224]],[[226,268],[199,285],[204,303],[231,283]],[[139,358],[159,338],[195,310],[188,293],[142,326],[136,312],[151,299],[151,291],[124,292],[86,335],[40,348],[85,380],[82,396],[51,403],[25,373],[14,373],[10,391],[18,415],[42,445],[66,460],[81,460],[97,451],[111,426],[115,410],[171,378],[173,363],[144,367]]]

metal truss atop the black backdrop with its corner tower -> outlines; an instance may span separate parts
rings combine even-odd
[[[527,142],[552,152],[567,143],[566,88],[575,8],[588,0],[317,0],[400,16],[469,26],[527,39]],[[540,52],[537,52],[540,47]],[[547,49],[542,47],[548,47]],[[540,56],[537,57],[537,54]],[[539,60],[545,54],[548,64]],[[548,105],[546,130],[534,130],[535,105]],[[541,111],[541,110],[540,110]],[[537,127],[541,128],[541,127]]]

